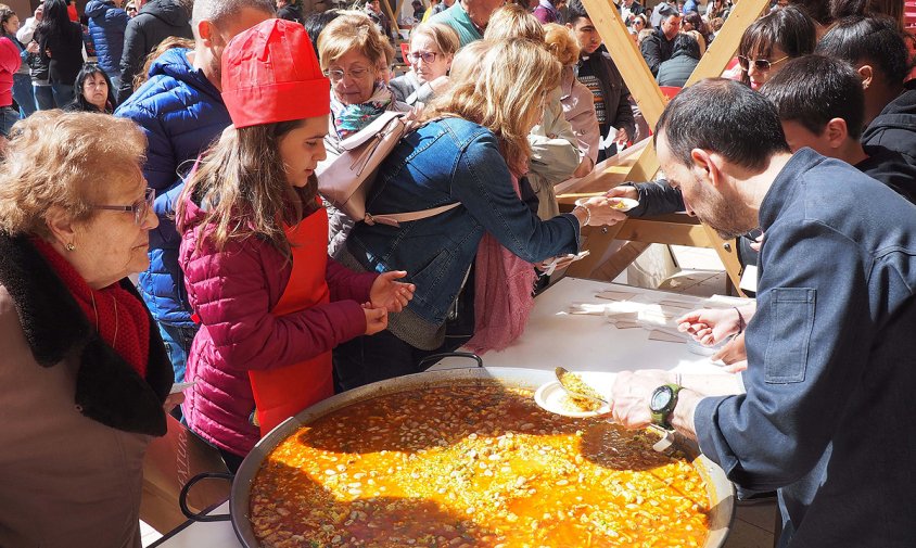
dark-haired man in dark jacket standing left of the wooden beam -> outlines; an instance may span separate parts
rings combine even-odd
[[[595,98],[595,114],[598,116],[601,138],[610,137],[614,143],[628,141],[634,135],[635,124],[633,109],[629,106],[629,89],[623,76],[611,55],[607,51],[599,51],[601,37],[580,0],[570,2],[567,21],[567,27],[572,29],[582,50],[575,66],[576,78]],[[612,127],[616,128],[616,132],[609,136]],[[605,148],[598,154],[598,162],[615,153],[615,145]]]

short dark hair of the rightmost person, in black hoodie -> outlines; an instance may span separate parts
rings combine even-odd
[[[867,62],[877,67],[888,82],[902,85],[909,73],[906,42],[896,22],[890,17],[843,17],[817,43],[817,53],[842,59],[853,66]]]

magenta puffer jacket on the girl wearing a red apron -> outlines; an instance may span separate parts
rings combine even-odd
[[[189,224],[204,212],[189,203]],[[214,226],[203,227],[208,235]],[[231,241],[217,252],[200,227],[186,230],[178,264],[185,271],[188,301],[200,331],[188,356],[185,418],[212,444],[246,455],[259,438],[249,422],[254,410],[250,370],[296,364],[330,351],[366,331],[360,303],[369,301],[377,275],[356,273],[328,259],[331,302],[298,314],[273,317],[292,266],[269,243],[257,238]]]

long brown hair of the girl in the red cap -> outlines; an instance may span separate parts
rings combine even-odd
[[[317,208],[318,182],[313,175],[304,189],[294,189],[280,156],[280,139],[303,120],[227,129],[204,154],[178,199],[178,230],[215,224],[211,240],[221,251],[229,240],[259,237],[290,257],[290,242],[281,221],[295,225]],[[186,222],[188,199],[200,202],[206,215]],[[198,239],[200,246],[203,239]]]

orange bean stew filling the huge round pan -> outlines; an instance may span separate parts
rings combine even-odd
[[[710,499],[653,436],[496,382],[410,390],[295,431],[251,487],[262,546],[702,546]]]

